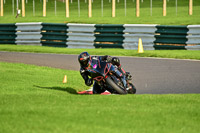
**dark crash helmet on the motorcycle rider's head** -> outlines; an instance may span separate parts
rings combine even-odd
[[[81,67],[88,67],[90,59],[91,59],[91,56],[88,54],[88,52],[82,52],[78,56],[78,61]]]

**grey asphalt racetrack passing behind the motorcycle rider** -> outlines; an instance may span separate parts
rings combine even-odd
[[[0,52],[0,62],[79,70],[78,55]],[[200,61],[119,57],[137,94],[200,93]]]

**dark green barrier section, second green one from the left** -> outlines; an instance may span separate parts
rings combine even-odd
[[[67,47],[67,25],[42,23],[42,46]]]

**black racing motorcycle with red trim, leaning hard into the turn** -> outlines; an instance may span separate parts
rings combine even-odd
[[[112,63],[102,61],[101,57],[89,63],[88,72],[91,78],[98,83],[99,86],[105,88],[112,94],[135,94],[136,88],[127,79],[126,75],[122,74],[118,67]]]

